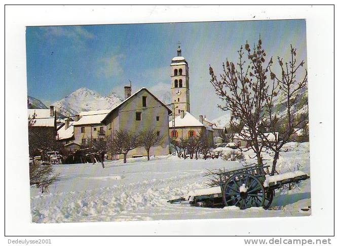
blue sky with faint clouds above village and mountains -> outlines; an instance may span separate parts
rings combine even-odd
[[[228,21],[86,26],[36,26],[26,29],[28,95],[46,104],[86,87],[101,95],[132,81],[169,99],[170,61],[181,42],[190,67],[191,112],[216,118],[225,114],[209,82],[209,64],[221,70],[237,50],[261,36],[267,56],[287,59],[290,44],[306,61],[305,20]]]

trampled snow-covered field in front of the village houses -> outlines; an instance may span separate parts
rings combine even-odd
[[[309,144],[289,143],[278,161],[278,172],[303,171],[310,175]],[[228,151],[228,150],[225,150]],[[244,153],[247,162],[248,152]],[[265,162],[270,163],[268,153]],[[169,199],[185,196],[190,190],[206,188],[206,169],[241,168],[238,161],[179,159],[176,156],[146,157],[107,161],[101,165],[55,165],[60,180],[41,194],[30,188],[31,216],[36,223],[97,222],[128,220],[217,219],[249,217],[309,216],[310,179],[294,190],[276,191],[271,210],[237,207],[191,207],[188,202],[170,204]]]

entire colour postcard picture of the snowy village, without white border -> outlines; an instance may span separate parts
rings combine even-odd
[[[31,221],[310,216],[306,47],[304,19],[27,27]]]

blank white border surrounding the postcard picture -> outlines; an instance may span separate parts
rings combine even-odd
[[[7,6],[6,172],[2,172],[3,180],[6,176],[5,234],[242,235],[246,232],[247,235],[331,235],[334,210],[333,16],[331,6]],[[270,19],[306,19],[307,22],[311,217],[30,223],[25,26]]]

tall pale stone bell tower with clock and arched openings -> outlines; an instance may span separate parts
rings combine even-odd
[[[174,103],[174,115],[180,115],[180,111],[190,112],[190,86],[189,64],[181,56],[180,44],[177,56],[171,61],[171,94]]]

